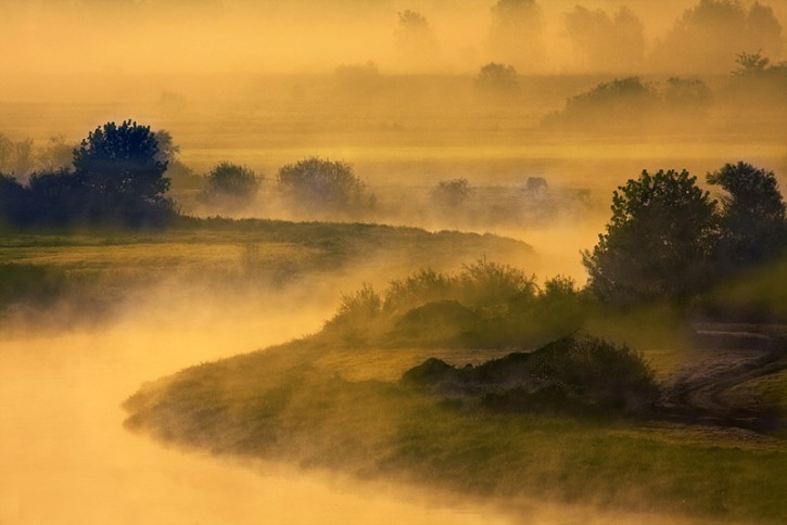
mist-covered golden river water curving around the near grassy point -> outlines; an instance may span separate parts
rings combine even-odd
[[[189,310],[0,343],[0,523],[508,523],[478,505],[353,488],[128,433],[118,405],[144,381],[288,341],[327,315]]]

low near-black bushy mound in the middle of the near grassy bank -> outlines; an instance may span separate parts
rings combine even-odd
[[[652,370],[626,346],[569,336],[529,354],[513,353],[478,367],[431,358],[402,376],[406,386],[490,409],[642,413],[659,399]]]

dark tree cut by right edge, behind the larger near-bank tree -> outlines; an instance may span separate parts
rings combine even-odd
[[[721,197],[718,257],[723,271],[737,271],[779,255],[787,246],[785,202],[773,171],[739,162],[708,174]]]

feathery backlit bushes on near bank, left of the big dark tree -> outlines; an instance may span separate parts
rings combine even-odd
[[[380,293],[344,295],[323,336],[381,346],[532,346],[577,330],[587,308],[572,280],[536,284],[519,269],[480,259],[455,274],[422,269]]]

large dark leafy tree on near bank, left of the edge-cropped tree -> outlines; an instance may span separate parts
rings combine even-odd
[[[682,299],[709,283],[715,201],[688,171],[643,171],[619,187],[612,218],[593,251],[582,253],[588,290],[615,306]]]

